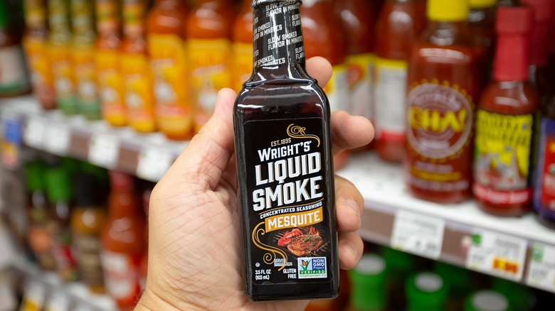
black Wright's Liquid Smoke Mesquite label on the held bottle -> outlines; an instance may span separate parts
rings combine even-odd
[[[255,284],[329,280],[332,208],[322,119],[245,123],[250,234]],[[331,171],[331,170],[329,170]]]

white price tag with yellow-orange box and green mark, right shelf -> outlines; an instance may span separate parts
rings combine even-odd
[[[526,260],[525,239],[475,229],[468,249],[469,269],[520,281]]]

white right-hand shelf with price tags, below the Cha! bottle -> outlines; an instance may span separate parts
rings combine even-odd
[[[555,231],[532,213],[504,218],[482,212],[473,200],[445,205],[418,200],[406,189],[401,165],[384,163],[374,153],[351,156],[339,175],[364,196],[364,239],[555,293],[555,258],[534,257],[536,249],[554,251]],[[546,280],[538,279],[540,268]]]

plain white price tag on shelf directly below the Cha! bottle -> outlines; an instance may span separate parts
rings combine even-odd
[[[443,219],[398,210],[393,222],[391,247],[437,259],[441,255],[444,230]]]

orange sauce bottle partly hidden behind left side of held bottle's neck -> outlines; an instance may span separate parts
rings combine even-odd
[[[233,89],[239,92],[253,74],[252,0],[242,0],[240,13],[233,23]]]

